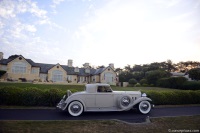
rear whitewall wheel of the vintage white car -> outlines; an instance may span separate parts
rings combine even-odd
[[[79,101],[73,101],[68,106],[68,112],[71,116],[79,116],[83,113],[83,105]]]

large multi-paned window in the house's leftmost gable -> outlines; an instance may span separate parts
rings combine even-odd
[[[12,66],[12,73],[26,73],[26,63],[25,62],[14,62]]]

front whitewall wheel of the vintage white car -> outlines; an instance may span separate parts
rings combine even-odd
[[[138,105],[138,110],[142,114],[148,114],[151,111],[151,104],[148,101],[142,101]]]

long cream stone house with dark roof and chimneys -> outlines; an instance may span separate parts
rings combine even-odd
[[[98,69],[90,68],[85,63],[82,68],[73,67],[73,61],[68,60],[67,65],[35,63],[22,55],[13,55],[3,59],[0,52],[0,70],[6,71],[1,76],[4,80],[26,79],[27,81],[42,82],[68,82],[68,83],[108,83],[116,85],[117,74],[114,64]]]

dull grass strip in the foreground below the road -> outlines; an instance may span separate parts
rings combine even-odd
[[[1,133],[168,133],[199,132],[200,116],[151,118],[147,124],[125,124],[112,120],[91,121],[0,121]],[[177,131],[176,131],[177,132]],[[184,131],[182,131],[184,132]]]

